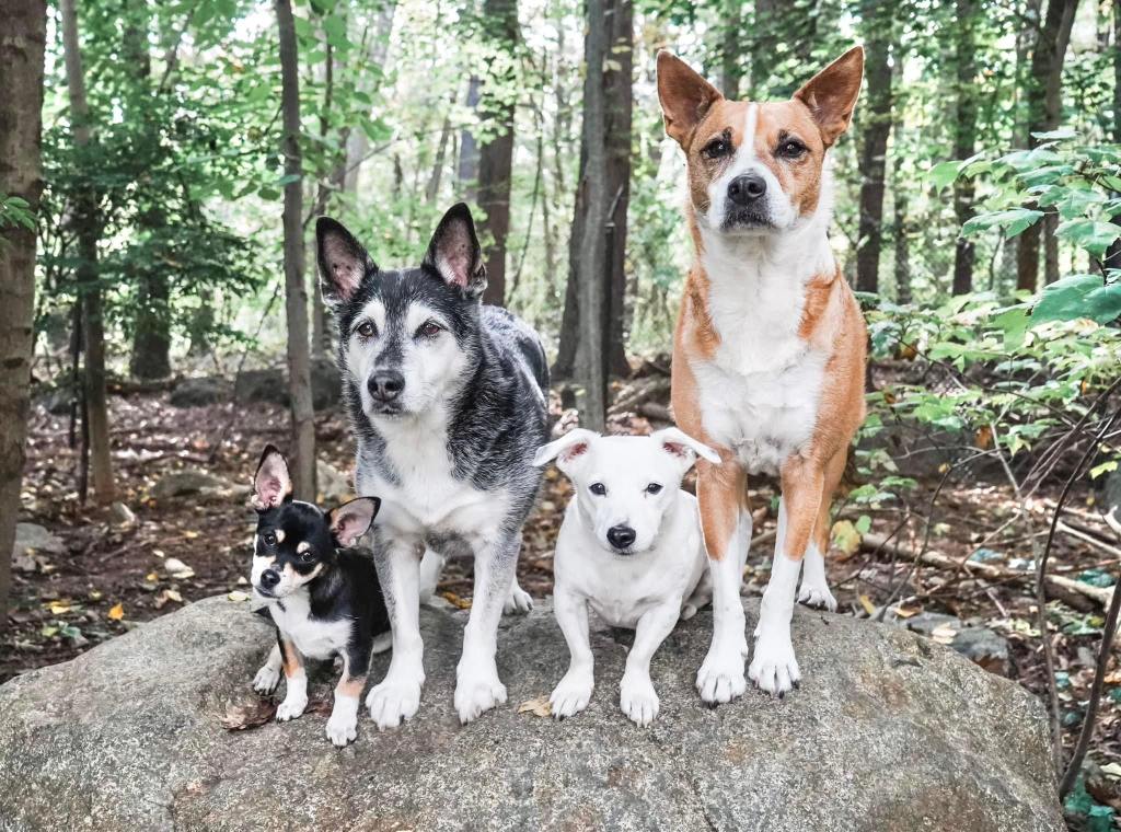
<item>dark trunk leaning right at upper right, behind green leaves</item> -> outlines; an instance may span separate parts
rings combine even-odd
[[[1031,54],[1031,76],[1028,78],[1028,129],[1023,137],[1027,147],[1035,147],[1036,132],[1054,130],[1058,126],[1062,107],[1063,62],[1071,43],[1071,29],[1078,0],[1049,0],[1047,15],[1036,37]],[[1016,258],[1016,287],[1035,292],[1039,284],[1039,235],[1045,223],[1036,223],[1019,237]],[[1049,235],[1054,239],[1054,234]],[[1056,258],[1057,264],[1057,258]]]

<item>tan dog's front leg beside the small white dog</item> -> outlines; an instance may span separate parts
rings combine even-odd
[[[697,464],[701,530],[712,574],[712,645],[697,672],[701,699],[711,704],[731,702],[747,688],[743,660],[748,655],[740,584],[751,515],[744,510],[747,478],[731,454],[724,462]]]

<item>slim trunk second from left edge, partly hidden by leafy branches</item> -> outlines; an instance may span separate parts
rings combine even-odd
[[[90,142],[90,109],[85,101],[85,77],[77,36],[74,0],[63,0],[63,45],[66,61],[66,86],[70,91],[74,142]],[[90,185],[83,185],[74,205],[80,265],[78,294],[82,298],[82,330],[85,334],[85,412],[89,426],[90,468],[94,497],[99,502],[113,499],[113,460],[109,446],[109,401],[105,391],[105,330],[98,284],[98,198]]]

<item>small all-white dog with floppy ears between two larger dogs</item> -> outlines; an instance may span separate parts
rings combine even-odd
[[[619,705],[639,725],[658,715],[650,659],[677,621],[712,597],[697,501],[680,489],[700,454],[715,451],[676,427],[651,436],[601,436],[577,428],[545,445],[575,486],[553,563],[554,612],[568,643],[568,673],[549,703],[557,719],[587,706],[594,686],[587,607],[612,627],[636,630]]]

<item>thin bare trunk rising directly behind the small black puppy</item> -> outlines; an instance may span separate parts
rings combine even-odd
[[[291,398],[293,484],[296,497],[315,500],[315,412],[312,408],[307,285],[304,283],[304,183],[299,148],[299,65],[291,0],[276,0],[280,36],[280,109],[284,187],[285,314],[288,322],[288,394]]]

